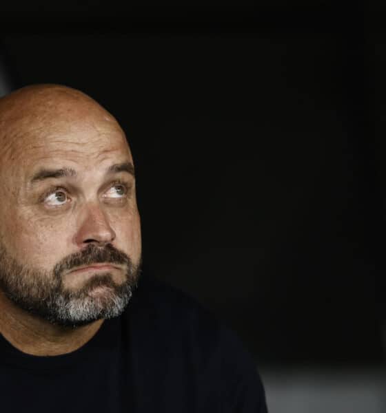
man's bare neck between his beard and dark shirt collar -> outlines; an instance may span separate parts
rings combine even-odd
[[[15,306],[0,293],[0,333],[12,346],[34,356],[57,356],[87,343],[103,320],[77,328],[57,326]]]

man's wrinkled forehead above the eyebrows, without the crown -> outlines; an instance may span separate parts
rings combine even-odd
[[[76,162],[84,167],[110,158],[132,160],[125,134],[107,114],[57,117],[43,122],[23,118],[8,128],[1,163],[25,173],[45,163]]]

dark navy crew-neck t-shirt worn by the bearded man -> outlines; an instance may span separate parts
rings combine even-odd
[[[252,358],[192,299],[143,277],[121,317],[69,354],[0,335],[0,412],[265,413]]]

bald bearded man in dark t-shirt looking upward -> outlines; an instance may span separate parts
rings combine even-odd
[[[266,412],[237,339],[139,279],[112,115],[68,87],[19,89],[0,99],[0,148],[1,412]]]

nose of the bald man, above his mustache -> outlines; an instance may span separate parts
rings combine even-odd
[[[98,245],[109,244],[115,240],[115,233],[99,204],[89,204],[80,214],[80,224],[75,236],[79,247],[94,243]]]

